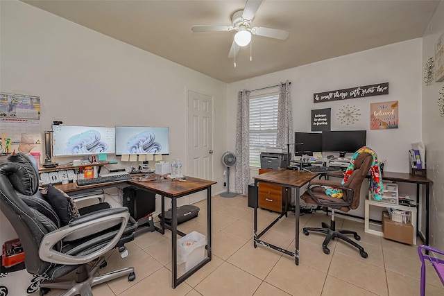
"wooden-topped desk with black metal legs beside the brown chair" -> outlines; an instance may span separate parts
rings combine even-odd
[[[296,265],[299,265],[299,196],[300,196],[300,187],[304,186],[311,180],[313,180],[318,174],[316,173],[308,173],[305,171],[292,171],[287,170],[285,168],[280,168],[277,170],[269,171],[268,173],[264,173],[254,177],[255,179],[255,188],[257,188],[259,182],[264,182],[268,184],[275,184],[284,187],[294,188],[296,190],[296,198],[295,198],[295,216],[296,216],[296,250],[295,252],[290,252],[288,250],[284,250],[281,247],[272,245],[271,243],[267,243],[266,241],[260,240],[261,236],[264,235],[268,229],[273,227],[275,223],[277,223],[282,217],[287,216],[288,211],[288,202],[285,202],[285,209],[282,211],[278,218],[275,218],[260,234],[257,234],[257,207],[255,207],[254,214],[254,246],[257,247],[257,243],[264,245],[266,247],[271,247],[274,250],[287,254],[289,256],[293,256],[295,258]],[[256,194],[257,198],[257,194]]]

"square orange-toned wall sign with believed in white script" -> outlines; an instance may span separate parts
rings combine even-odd
[[[370,129],[398,128],[398,101],[370,104]]]

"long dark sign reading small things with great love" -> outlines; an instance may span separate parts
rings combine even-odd
[[[338,89],[330,92],[313,94],[313,103],[346,100],[348,98],[364,98],[366,96],[379,96],[388,94],[388,82],[350,89]]]

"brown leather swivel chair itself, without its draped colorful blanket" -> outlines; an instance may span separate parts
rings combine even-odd
[[[359,207],[361,184],[364,181],[371,164],[372,155],[370,155],[370,153],[361,153],[356,157],[355,169],[350,177],[348,177],[348,180],[344,185],[342,185],[341,182],[330,180],[312,180],[309,183],[307,191],[301,195],[300,198],[309,204],[316,204],[321,207],[332,209],[330,225],[327,225],[327,223],[322,223],[322,228],[304,227],[303,229],[306,236],[309,235],[309,232],[321,232],[323,234],[327,234],[322,243],[325,254],[330,254],[330,249],[327,247],[328,243],[330,243],[333,238],[341,238],[341,240],[357,247],[361,257],[367,258],[368,254],[364,251],[364,247],[361,247],[361,245],[358,245],[355,241],[352,241],[350,238],[345,236],[345,234],[353,234],[355,239],[359,241],[361,237],[357,234],[357,232],[343,229],[336,230],[334,210],[339,209],[340,211],[348,212],[350,209],[357,209],[357,207]],[[326,189],[323,186],[341,189],[343,191],[342,198],[327,195],[325,193]]]

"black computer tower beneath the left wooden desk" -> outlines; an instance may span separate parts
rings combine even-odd
[[[125,187],[123,189],[123,207],[128,207],[130,216],[139,220],[155,211],[155,193]]]

